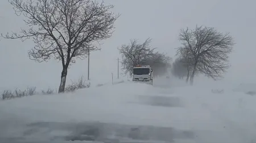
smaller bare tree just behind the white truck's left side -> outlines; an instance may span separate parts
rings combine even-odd
[[[141,62],[153,54],[154,49],[150,46],[151,39],[147,38],[143,44],[138,44],[138,40],[130,40],[130,45],[122,45],[118,47],[119,53],[122,55],[122,66],[125,73],[133,71],[133,67],[141,64]]]

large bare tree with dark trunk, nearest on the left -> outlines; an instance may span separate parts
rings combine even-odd
[[[88,50],[99,50],[94,44],[112,36],[118,15],[94,0],[9,0],[16,15],[23,14],[30,27],[20,33],[6,34],[5,38],[22,41],[32,38],[35,47],[28,51],[30,59],[47,62],[51,58],[61,61],[59,93],[64,92],[70,63],[84,59]]]

